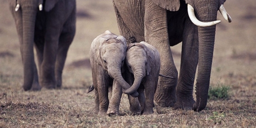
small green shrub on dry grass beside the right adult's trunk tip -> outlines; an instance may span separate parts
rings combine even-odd
[[[224,85],[215,86],[215,87],[210,86],[209,92],[208,92],[208,99],[211,99],[211,100],[228,99],[229,90],[230,90],[230,87],[224,86]]]

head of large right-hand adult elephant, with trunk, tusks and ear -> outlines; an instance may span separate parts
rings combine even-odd
[[[179,0],[152,1],[169,11],[178,11],[181,2]],[[185,2],[188,6],[188,15],[191,22],[198,26],[198,78],[196,80],[196,102],[193,105],[193,109],[195,111],[201,111],[205,108],[208,97],[215,41],[215,24],[220,22],[216,21],[217,12],[220,11],[224,19],[228,22],[232,22],[232,19],[223,7],[225,0],[185,0]]]

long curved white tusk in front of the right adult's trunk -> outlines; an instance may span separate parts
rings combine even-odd
[[[188,14],[189,14],[189,18],[190,20],[199,27],[209,27],[209,26],[213,26],[217,23],[220,23],[221,21],[211,21],[211,22],[201,22],[199,21],[196,17],[195,17],[195,12],[194,12],[194,8],[188,4]]]

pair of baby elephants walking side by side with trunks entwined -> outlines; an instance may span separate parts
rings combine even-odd
[[[133,114],[153,113],[160,71],[160,55],[155,47],[146,42],[127,46],[123,36],[105,31],[92,41],[90,62],[93,86],[89,92],[95,88],[95,108],[100,115],[119,115],[122,92],[128,94]]]

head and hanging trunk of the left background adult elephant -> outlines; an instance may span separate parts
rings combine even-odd
[[[21,43],[20,50],[24,71],[23,88],[25,91],[32,87],[35,73],[33,42],[37,11],[45,9],[46,12],[49,12],[57,1],[58,0],[9,0],[9,8],[15,19],[19,42]],[[43,5],[45,6],[43,7]]]

